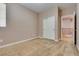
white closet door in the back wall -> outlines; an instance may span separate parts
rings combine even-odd
[[[55,16],[43,20],[43,37],[55,39]]]

